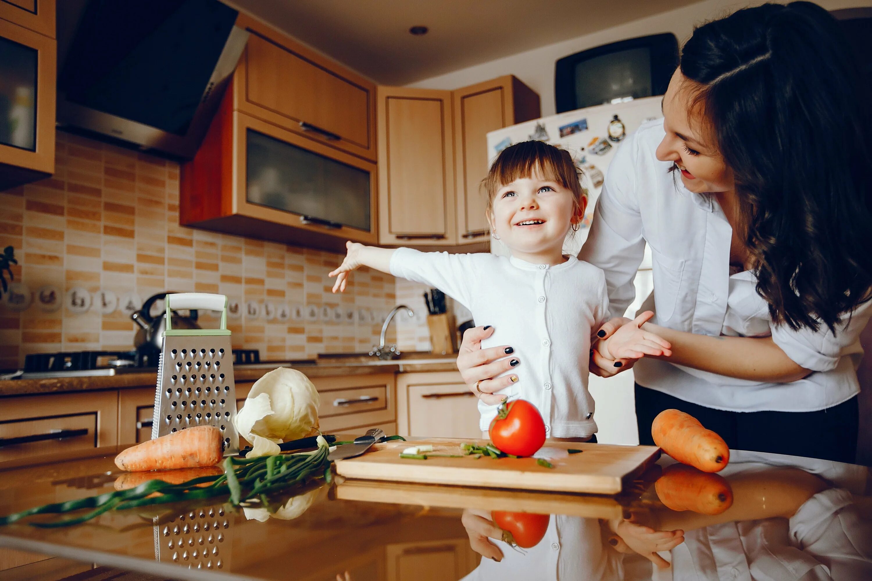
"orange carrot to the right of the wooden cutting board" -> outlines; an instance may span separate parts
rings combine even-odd
[[[703,472],[724,470],[730,462],[730,449],[724,439],[678,409],[660,412],[651,423],[651,436],[666,454]]]

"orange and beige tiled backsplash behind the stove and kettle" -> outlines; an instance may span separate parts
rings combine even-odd
[[[393,277],[367,269],[331,294],[337,254],[179,226],[178,164],[65,132],[51,178],[0,193],[0,248],[8,245],[15,280],[33,300],[17,311],[3,297],[0,368],[19,367],[28,353],[133,348],[136,326],[123,307],[166,290],[238,301],[242,313],[228,319],[234,347],[269,360],[369,351],[396,303]],[[77,304],[92,305],[51,310],[39,289],[44,300],[54,289],[58,303],[77,293]]]

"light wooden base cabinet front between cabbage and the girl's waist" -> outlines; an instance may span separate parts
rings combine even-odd
[[[480,438],[478,400],[460,372],[397,375],[400,436]]]

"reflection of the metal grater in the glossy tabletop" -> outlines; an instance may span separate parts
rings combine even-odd
[[[232,514],[224,505],[188,510],[160,522],[154,517],[154,558],[188,569],[229,569]]]

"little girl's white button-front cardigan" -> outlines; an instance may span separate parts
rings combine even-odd
[[[553,437],[596,432],[588,392],[590,333],[609,317],[603,271],[570,256],[555,267],[490,253],[422,253],[398,248],[391,274],[438,287],[494,334],[483,348],[511,345],[521,364],[503,375],[518,382],[500,395],[532,402]],[[499,406],[479,401],[480,429]]]

